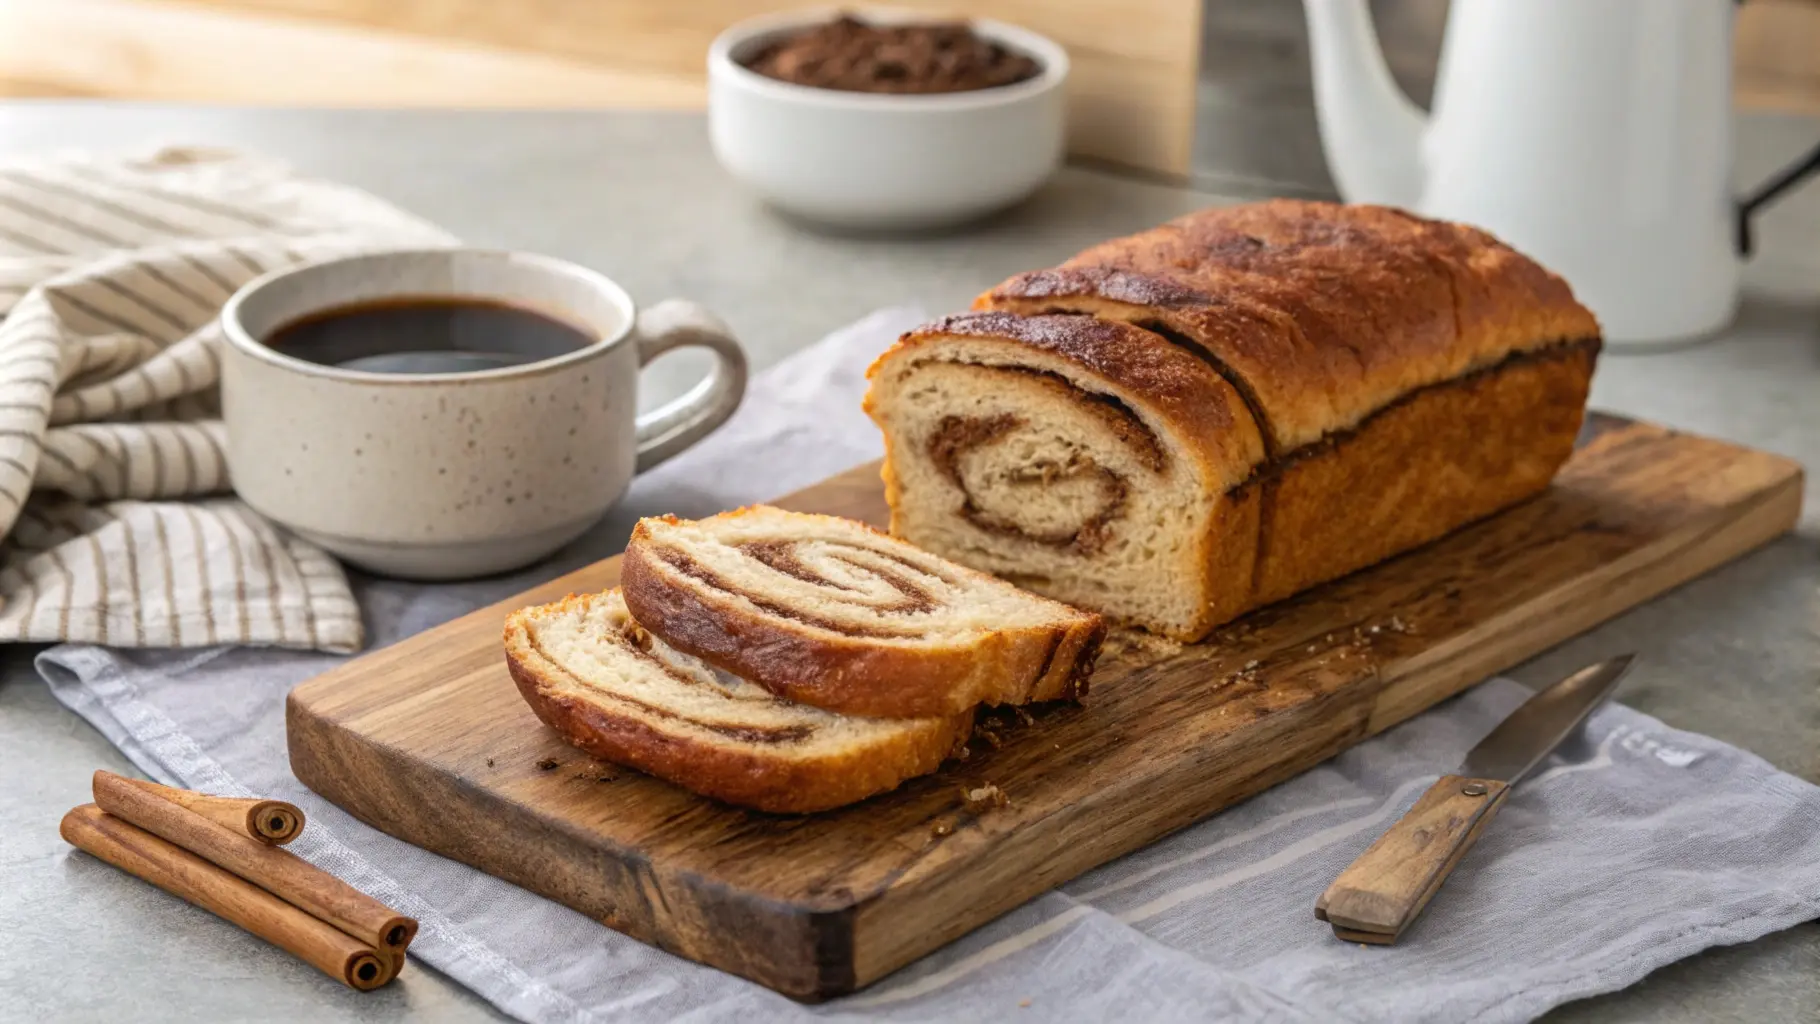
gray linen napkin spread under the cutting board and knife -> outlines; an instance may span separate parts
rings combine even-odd
[[[874,315],[761,376],[721,433],[639,478],[557,562],[446,587],[355,578],[371,637],[610,555],[637,515],[710,513],[875,457],[863,371],[917,320]],[[311,826],[291,849],[417,915],[413,953],[522,1020],[979,1020],[1021,1006],[1032,1020],[1527,1020],[1820,917],[1820,788],[1614,706],[1511,797],[1400,946],[1338,942],[1314,897],[1527,695],[1492,680],[855,997],[804,1008],[317,800],[288,769],[282,700],[331,664],[64,646],[40,671],[155,778],[304,804]]]

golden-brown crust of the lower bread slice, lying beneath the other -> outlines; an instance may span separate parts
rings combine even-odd
[[[592,602],[602,595],[571,595]],[[706,744],[664,731],[635,715],[561,693],[551,666],[530,644],[530,622],[544,607],[506,618],[506,666],[531,711],[568,744],[613,764],[635,768],[684,789],[772,813],[812,813],[864,800],[906,778],[935,771],[972,731],[972,709],[821,757],[781,757],[761,746]]]

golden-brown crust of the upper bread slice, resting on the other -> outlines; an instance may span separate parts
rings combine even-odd
[[[662,518],[677,522],[675,517]],[[888,538],[870,526],[864,529]],[[963,566],[952,566],[952,571],[985,577]],[[1107,633],[1103,618],[1077,613],[1056,626],[1005,627],[966,644],[930,648],[886,646],[868,637],[832,637],[826,631],[812,635],[748,615],[728,591],[677,586],[673,569],[653,551],[644,520],[632,531],[619,586],[633,618],[672,648],[788,700],[843,715],[957,715],[981,702],[1001,702],[997,695],[1006,689],[1006,680],[1025,700],[1077,700],[1087,695],[1087,680]]]

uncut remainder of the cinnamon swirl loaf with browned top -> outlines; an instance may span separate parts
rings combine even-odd
[[[1600,349],[1567,284],[1389,207],[1196,213],[872,367],[892,533],[1196,640],[1523,500]]]

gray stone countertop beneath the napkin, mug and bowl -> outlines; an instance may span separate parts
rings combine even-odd
[[[1815,120],[1744,118],[1740,180],[1762,178],[1815,138]],[[0,158],[158,144],[277,155],[371,189],[470,242],[590,264],[641,300],[703,300],[728,318],[761,367],[875,307],[959,309],[1010,273],[1219,202],[1067,169],[1032,202],[966,233],[839,238],[755,206],[715,167],[701,118],[688,115],[0,105]],[[1760,246],[1744,309],[1725,336],[1674,353],[1607,353],[1594,406],[1820,464],[1820,186],[1771,211]],[[659,364],[641,404],[675,393],[695,373],[686,353]],[[1796,535],[1512,675],[1536,684],[1640,649],[1649,671],[1627,680],[1625,704],[1820,782],[1816,489],[1809,478]],[[84,1009],[69,1019],[497,1019],[428,968],[369,995],[302,964],[282,973],[218,971],[206,989],[186,986],[184,957],[233,962],[249,939],[204,920],[169,942],[178,920],[173,897],[126,877],[102,882],[71,871],[58,817],[89,798],[93,769],[133,769],[51,698],[31,653],[0,649],[0,1020],[44,1020],[47,997],[62,986],[82,989],[66,1006]],[[1820,922],[1702,953],[1549,1019],[1820,1020]]]

